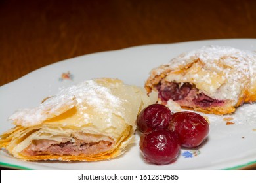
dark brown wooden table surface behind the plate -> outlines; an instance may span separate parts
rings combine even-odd
[[[0,0],[0,86],[93,52],[226,38],[256,38],[256,1]]]

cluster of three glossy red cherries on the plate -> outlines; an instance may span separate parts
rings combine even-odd
[[[181,147],[195,148],[209,134],[209,124],[195,112],[176,112],[153,104],[137,116],[140,152],[148,163],[166,165],[176,161]]]

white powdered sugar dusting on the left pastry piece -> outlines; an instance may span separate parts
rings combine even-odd
[[[38,107],[18,110],[9,119],[13,120],[16,125],[28,127],[41,124],[75,105],[79,108],[79,112],[83,112],[86,109],[83,107],[83,103],[87,103],[97,112],[111,112],[111,108],[121,105],[120,99],[112,95],[109,88],[100,86],[94,80],[88,80],[68,88],[62,88],[54,97],[50,97]],[[84,114],[83,117],[85,121],[89,120],[88,115]]]

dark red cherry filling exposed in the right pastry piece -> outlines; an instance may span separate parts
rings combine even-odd
[[[175,82],[159,84],[158,97],[167,102],[169,99],[176,101],[181,106],[186,107],[216,107],[224,104],[223,100],[213,99],[203,92],[200,92],[194,85],[184,83],[181,86]]]

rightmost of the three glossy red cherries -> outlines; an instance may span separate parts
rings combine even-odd
[[[209,134],[209,124],[203,116],[195,112],[176,112],[170,129],[179,136],[181,146],[195,148],[202,144]]]

